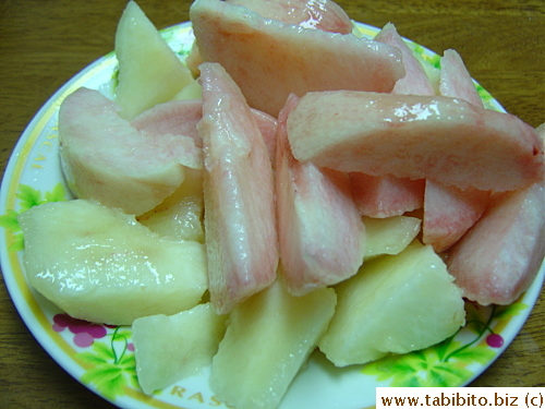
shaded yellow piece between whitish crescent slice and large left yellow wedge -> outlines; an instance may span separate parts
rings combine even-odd
[[[203,170],[187,168],[182,185],[136,219],[160,236],[204,243],[203,216]]]

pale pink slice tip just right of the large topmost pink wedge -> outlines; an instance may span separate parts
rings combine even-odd
[[[405,44],[403,38],[398,34],[393,24],[386,24],[383,29],[375,36],[375,40],[399,48],[403,57],[405,76],[398,80],[392,89],[393,94],[435,94],[434,87],[429,82],[424,68],[416,59],[416,57],[414,57],[412,50]]]

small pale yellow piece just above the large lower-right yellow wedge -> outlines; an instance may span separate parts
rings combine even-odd
[[[416,238],[421,227],[419,218],[408,216],[363,217],[363,224],[367,233],[365,258],[401,253]]]

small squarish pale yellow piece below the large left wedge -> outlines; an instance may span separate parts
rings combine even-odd
[[[134,320],[136,374],[145,394],[201,373],[211,363],[226,332],[227,315],[217,315],[209,303],[174,315]]]

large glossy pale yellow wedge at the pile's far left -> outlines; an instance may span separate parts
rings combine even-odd
[[[47,203],[19,222],[29,285],[75,318],[130,325],[191,309],[206,290],[203,244],[160,239],[117,209]]]

